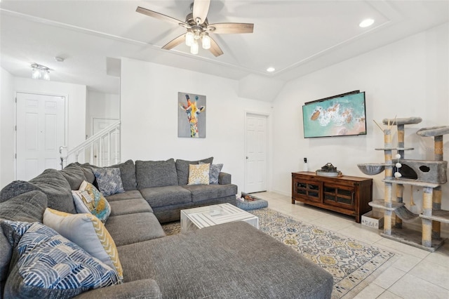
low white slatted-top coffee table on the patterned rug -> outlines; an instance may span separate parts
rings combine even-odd
[[[259,228],[259,218],[232,204],[215,204],[181,210],[182,233],[234,221],[245,221]]]

